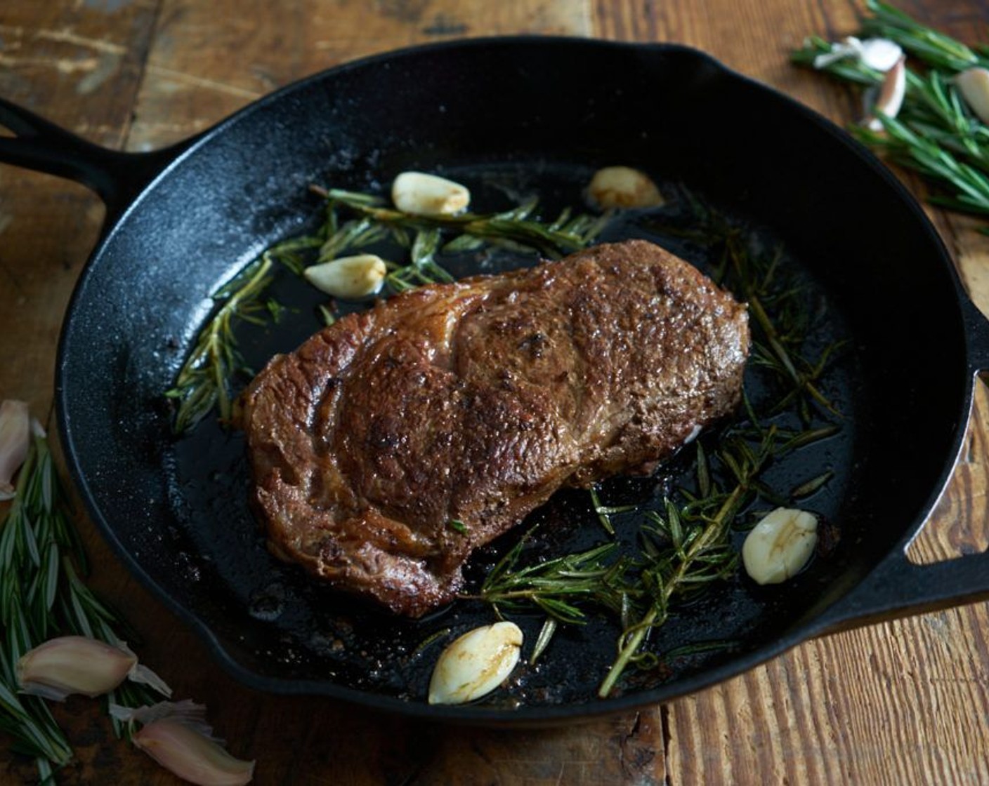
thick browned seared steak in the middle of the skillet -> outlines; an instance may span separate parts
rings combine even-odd
[[[748,351],[745,306],[644,241],[422,287],[251,383],[252,501],[276,555],[419,616],[561,486],[648,469],[730,412]]]

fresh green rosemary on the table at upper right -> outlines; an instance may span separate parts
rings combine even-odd
[[[932,202],[963,213],[989,215],[989,127],[968,109],[951,81],[967,68],[989,67],[989,58],[892,6],[876,0],[866,5],[870,16],[861,20],[858,36],[899,44],[922,61],[927,71],[906,69],[906,94],[899,114],[894,119],[877,113],[882,131],[859,124],[851,130],[890,161],[933,185],[938,193]],[[874,88],[883,81],[881,72],[857,58],[816,64],[831,51],[832,44],[811,37],[792,53],[792,60],[865,87]]]

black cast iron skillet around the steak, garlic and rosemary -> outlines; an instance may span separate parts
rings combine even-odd
[[[882,165],[704,54],[541,38],[413,48],[317,74],[150,154],[95,147],[0,107],[15,133],[0,138],[0,159],[81,181],[108,206],[57,360],[71,474],[129,568],[252,687],[434,719],[558,722],[665,700],[866,620],[989,596],[986,554],[926,567],[904,556],[948,479],[974,378],[989,367],[986,320]],[[811,453],[835,478],[807,503],[840,540],[783,589],[738,577],[681,611],[657,652],[720,644],[633,675],[607,699],[593,694],[614,631],[595,622],[561,634],[489,701],[428,706],[438,649],[419,646],[490,612],[460,603],[419,623],[393,621],[275,564],[245,507],[240,438],[207,424],[176,440],[162,392],[210,311],[207,294],[312,215],[310,182],[384,189],[416,168],[468,180],[492,204],[505,196],[492,184],[505,183],[552,202],[616,162],[766,227],[848,340],[828,382],[842,436]],[[289,322],[244,336],[251,362],[316,329]],[[798,480],[803,470],[789,471]],[[608,491],[654,492],[631,481]],[[587,514],[584,496],[562,494],[537,518],[571,548],[600,534],[592,515],[581,524]],[[521,622],[531,641],[539,619]]]

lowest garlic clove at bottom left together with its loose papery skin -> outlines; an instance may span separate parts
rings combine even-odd
[[[242,786],[254,777],[254,762],[231,756],[206,723],[206,708],[191,701],[150,707],[111,705],[118,721],[141,724],[131,737],[161,766],[198,786]]]

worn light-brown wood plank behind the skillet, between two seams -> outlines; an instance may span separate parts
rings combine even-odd
[[[271,17],[277,23],[258,24]],[[526,32],[589,34],[584,0],[301,0],[278,11],[263,0],[169,0],[148,57],[129,147],[192,135],[278,87],[368,54]]]

